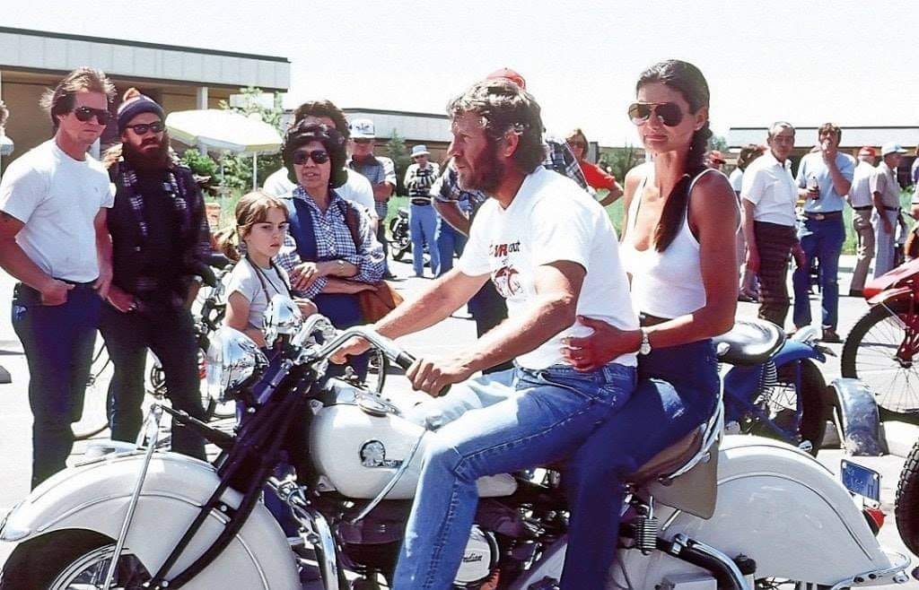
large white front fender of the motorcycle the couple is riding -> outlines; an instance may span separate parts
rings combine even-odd
[[[57,473],[10,512],[0,540],[25,541],[73,529],[118,539],[142,461],[138,452],[109,455]],[[148,571],[157,571],[218,484],[217,474],[206,462],[176,453],[154,454],[128,532],[127,551]],[[230,512],[239,506],[242,495],[227,490],[221,500]],[[185,570],[205,551],[226,520],[225,514],[211,511],[170,574]],[[299,590],[301,585],[284,532],[257,503],[221,555],[183,587]]]

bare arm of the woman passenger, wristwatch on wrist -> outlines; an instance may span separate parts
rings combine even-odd
[[[698,233],[706,304],[691,314],[644,328],[652,349],[713,338],[732,328],[738,291],[733,244],[739,217],[737,197],[726,178],[706,174],[698,180],[689,199],[689,220],[690,227],[695,226]],[[724,244],[732,246],[725,248]],[[566,339],[562,351],[579,371],[592,371],[622,354],[637,351],[641,343],[639,330],[622,330],[586,317],[578,317],[578,321],[594,328],[594,333],[586,338]]]

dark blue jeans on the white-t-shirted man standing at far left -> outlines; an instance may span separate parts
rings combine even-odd
[[[41,305],[26,284],[13,291],[13,329],[28,362],[32,410],[32,487],[64,469],[74,446],[71,422],[83,414],[102,300],[77,284],[60,306]]]

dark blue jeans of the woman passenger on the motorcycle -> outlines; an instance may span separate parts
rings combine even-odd
[[[571,506],[564,590],[603,587],[616,557],[623,484],[714,412],[720,383],[711,340],[640,356],[638,378],[629,402],[584,442],[564,473]]]

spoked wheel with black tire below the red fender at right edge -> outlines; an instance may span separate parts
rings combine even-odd
[[[840,360],[844,377],[860,379],[874,394],[882,414],[916,417],[919,414],[919,366],[905,366],[893,354],[907,337],[896,317],[906,313],[905,302],[872,306],[849,332]]]

